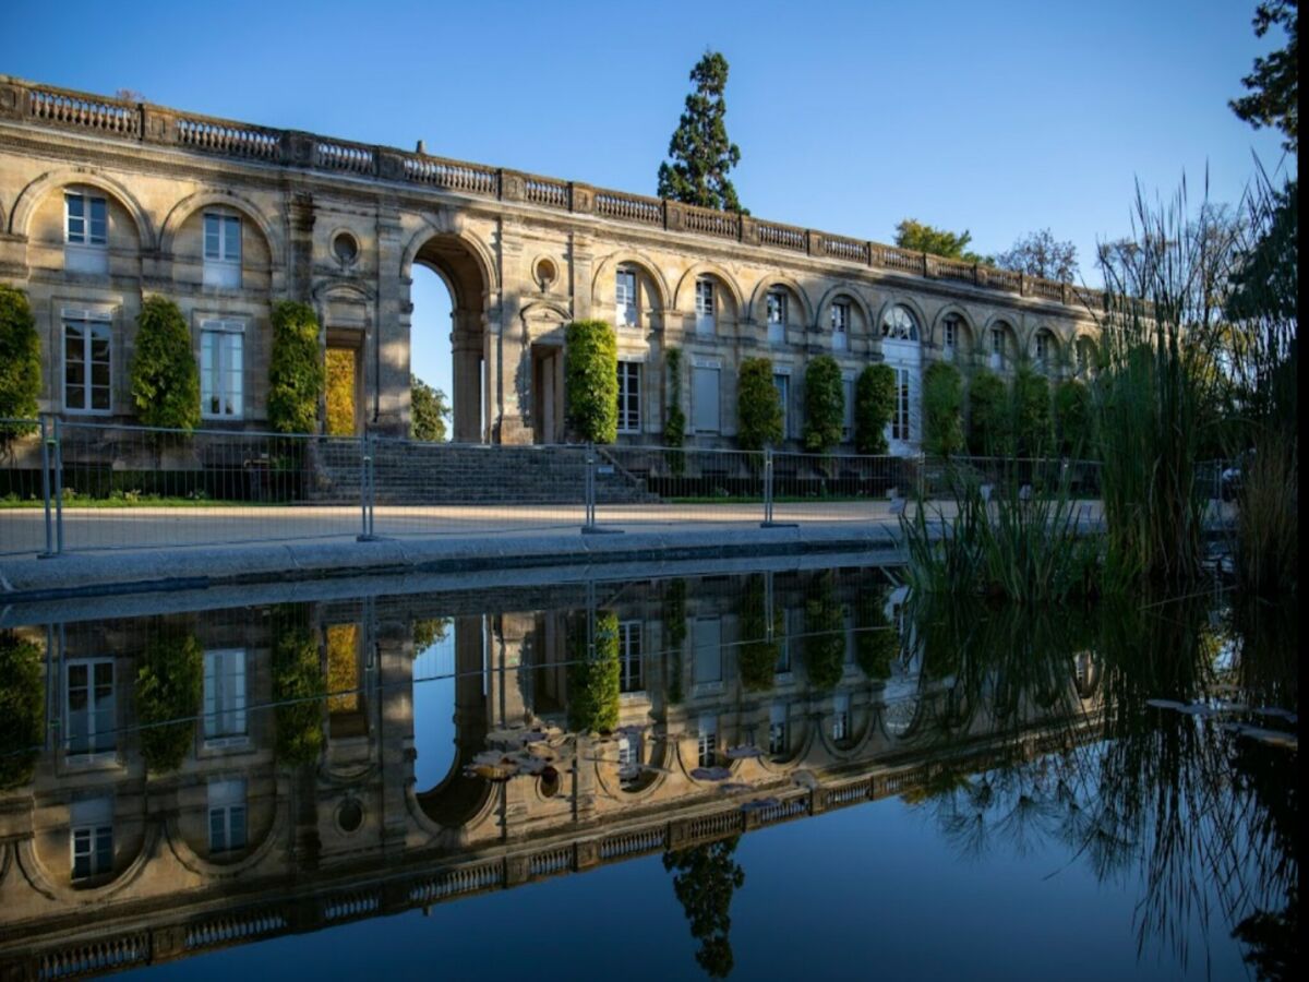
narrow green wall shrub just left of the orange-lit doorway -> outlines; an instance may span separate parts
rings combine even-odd
[[[295,300],[279,301],[272,308],[268,426],[279,433],[315,432],[326,385],[314,309]]]

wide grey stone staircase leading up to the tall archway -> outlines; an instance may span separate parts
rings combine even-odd
[[[581,504],[584,446],[487,446],[377,440],[376,504]],[[657,501],[645,482],[597,452],[596,500],[606,504]],[[360,450],[352,440],[314,446],[309,500],[355,503],[360,494]]]

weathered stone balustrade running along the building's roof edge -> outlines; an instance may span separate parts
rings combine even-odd
[[[522,200],[542,208],[589,212],[614,221],[827,257],[895,274],[966,283],[1066,305],[1103,308],[1100,291],[1025,276],[994,266],[391,147],[350,143],[295,130],[274,130],[179,113],[149,102],[127,102],[35,85],[5,75],[0,75],[0,120],[82,130],[103,136],[177,145],[188,151],[332,174],[421,185],[482,198]],[[513,174],[512,179],[507,177],[509,174]]]

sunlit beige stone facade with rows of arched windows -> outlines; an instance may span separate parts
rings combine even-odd
[[[69,217],[79,192],[79,208],[103,202],[102,244],[73,241],[85,234]],[[207,245],[224,217],[240,245]],[[665,354],[677,347],[695,445],[732,444],[736,369],[761,355],[793,380],[797,437],[804,367],[833,354],[851,380],[872,361],[905,369],[908,432],[893,449],[910,452],[924,364],[1007,369],[1031,357],[1072,371],[1100,302],[1069,284],[763,219],[0,76],[0,282],[27,291],[37,313],[43,411],[88,409],[65,390],[64,325],[81,312],[102,318],[110,342],[109,402],[90,409],[130,419],[135,318],[157,292],[182,306],[198,356],[202,325],[242,335],[240,414],[220,419],[259,427],[270,308],[291,297],[314,305],[325,348],[356,352],[357,428],[403,433],[415,263],[450,288],[459,441],[562,441],[563,326],[598,317],[619,325],[619,359],[636,365],[626,441],[658,443]],[[895,325],[902,339],[888,335]]]

